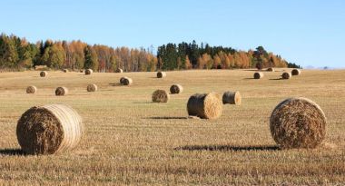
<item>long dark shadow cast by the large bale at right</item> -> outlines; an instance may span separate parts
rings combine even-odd
[[[187,145],[174,148],[175,151],[280,151],[281,148],[277,145],[262,145],[262,146],[232,146],[232,145]]]

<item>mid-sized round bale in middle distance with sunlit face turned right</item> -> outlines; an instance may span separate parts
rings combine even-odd
[[[187,103],[189,115],[202,119],[216,119],[222,115],[222,101],[217,93],[193,94]]]

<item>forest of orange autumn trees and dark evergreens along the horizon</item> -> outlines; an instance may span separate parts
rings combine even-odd
[[[82,41],[39,41],[35,44],[14,34],[0,35],[1,71],[23,71],[35,66],[71,70],[91,68],[96,72],[147,72],[188,69],[239,69],[265,67],[301,67],[288,63],[280,55],[256,50],[237,51],[209,44],[163,44],[156,52],[149,48],[110,47]]]

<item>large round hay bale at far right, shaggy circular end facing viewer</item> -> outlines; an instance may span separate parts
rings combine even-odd
[[[271,113],[271,135],[282,148],[315,148],[325,138],[327,119],[317,103],[290,98]]]

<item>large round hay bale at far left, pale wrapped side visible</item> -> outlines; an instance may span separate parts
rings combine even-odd
[[[74,149],[84,133],[82,118],[62,104],[34,106],[18,120],[16,136],[28,154],[54,154]]]

